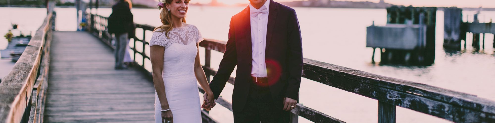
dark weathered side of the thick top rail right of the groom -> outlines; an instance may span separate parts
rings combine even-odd
[[[307,62],[307,61],[306,61]],[[309,63],[308,63],[309,64]],[[320,65],[305,65],[303,77],[313,81],[336,87],[347,92],[353,92],[362,96],[366,96],[372,99],[383,101],[389,104],[401,106],[407,109],[418,111],[421,113],[429,114],[439,118],[443,118],[453,122],[495,122],[495,115],[480,110],[459,106],[457,103],[450,101],[437,100],[435,98],[429,98],[427,96],[421,96],[415,93],[396,91],[382,86],[371,84],[370,81],[366,82],[350,79],[352,77],[341,76],[336,72],[332,74],[332,70],[322,71]],[[332,66],[325,66],[331,68]],[[357,71],[357,70],[356,70]],[[337,75],[336,75],[337,74]],[[366,80],[366,79],[362,79]],[[403,80],[402,80],[403,81]],[[406,85],[406,84],[404,84]],[[423,92],[426,93],[426,92]],[[465,94],[468,97],[471,95]],[[466,97],[454,97],[454,98],[466,98]],[[482,99],[482,98],[478,98]],[[475,101],[476,102],[476,101]],[[480,105],[482,106],[482,105]],[[489,104],[485,106],[490,106]]]

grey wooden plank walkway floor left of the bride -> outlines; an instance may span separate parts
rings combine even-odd
[[[112,50],[88,32],[53,33],[47,123],[154,122],[154,87],[139,70],[115,70]]]

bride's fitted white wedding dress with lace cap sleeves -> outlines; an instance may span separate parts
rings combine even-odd
[[[165,48],[163,56],[163,83],[168,105],[171,108],[174,123],[201,123],[199,90],[194,73],[194,62],[198,49],[196,43],[203,40],[198,28],[184,23],[165,36],[160,29],[153,32],[149,46],[160,45]],[[155,93],[155,122],[161,122],[161,105]]]

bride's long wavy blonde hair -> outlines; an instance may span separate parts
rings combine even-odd
[[[163,3],[163,8],[160,8],[161,9],[160,20],[162,25],[154,29],[154,31],[156,31],[157,29],[161,29],[160,32],[165,31],[165,36],[167,36],[167,38],[169,38],[168,32],[173,29],[174,23],[172,21],[172,13],[170,13],[170,11],[167,10],[166,4],[170,4],[172,1],[173,0],[158,0],[158,2]],[[183,18],[182,22],[186,23],[186,19]]]

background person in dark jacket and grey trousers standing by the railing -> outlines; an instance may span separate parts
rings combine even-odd
[[[134,30],[133,15],[129,2],[119,0],[112,6],[108,17],[108,32],[115,34],[115,69],[125,69],[123,65],[125,49],[129,42],[129,32]]]

